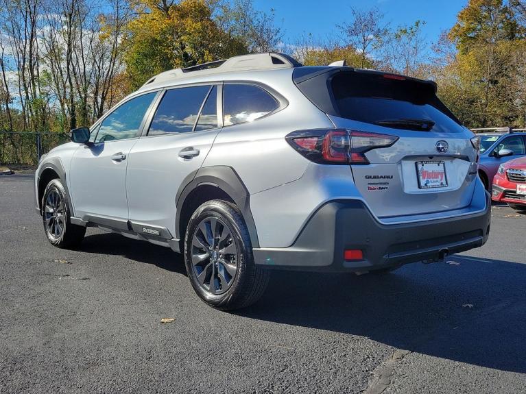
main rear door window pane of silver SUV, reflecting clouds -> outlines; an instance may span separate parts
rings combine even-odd
[[[210,86],[167,90],[155,112],[148,135],[191,132],[208,90]]]

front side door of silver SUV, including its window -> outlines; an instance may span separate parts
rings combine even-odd
[[[114,227],[125,225],[126,166],[157,94],[146,93],[121,103],[96,125],[93,144],[75,151],[69,184],[77,217]]]

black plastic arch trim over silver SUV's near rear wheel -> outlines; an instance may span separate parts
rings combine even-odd
[[[176,238],[184,237],[184,234],[180,234],[179,231],[180,214],[184,201],[195,188],[202,185],[215,186],[234,201],[243,214],[252,246],[259,247],[256,225],[250,210],[250,194],[235,169],[228,166],[201,167],[184,178],[176,195]]]

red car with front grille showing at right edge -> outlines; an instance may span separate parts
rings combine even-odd
[[[493,178],[491,198],[507,203],[514,210],[526,211],[526,158],[510,160],[499,166]]]

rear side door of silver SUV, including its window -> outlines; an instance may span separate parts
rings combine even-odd
[[[166,90],[152,112],[128,162],[129,217],[137,232],[163,238],[176,234],[178,189],[201,167],[222,125],[219,88],[208,84]]]

